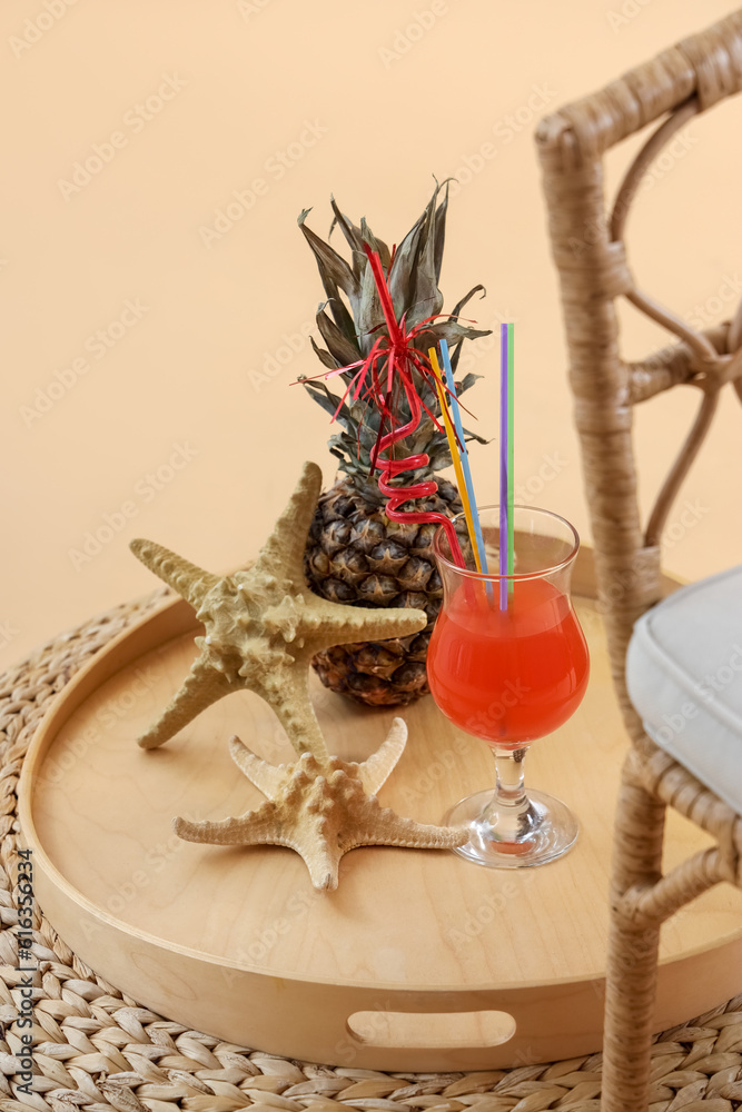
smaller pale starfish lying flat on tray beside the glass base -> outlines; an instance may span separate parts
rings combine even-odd
[[[324,765],[304,753],[289,765],[270,765],[238,737],[233,761],[267,802],[257,811],[221,822],[176,818],[174,828],[187,842],[215,845],[285,845],[304,858],[315,888],[336,888],[340,858],[362,845],[397,845],[446,850],[467,837],[462,827],[425,826],[402,818],[376,798],[407,741],[407,727],[395,718],[387,739],[363,764],[329,757]]]

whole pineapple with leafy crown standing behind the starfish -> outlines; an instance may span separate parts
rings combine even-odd
[[[443,199],[438,202],[442,191]],[[438,277],[447,188],[444,191],[436,185],[425,211],[405,236],[393,261],[387,246],[376,239],[365,220],[356,227],[334,200],[332,205],[335,219],[330,234],[337,225],[350,248],[350,264],[306,227],[308,210],[299,217],[299,227],[314,251],[327,296],[316,318],[327,347],[319,348],[311,341],[323,365],[333,370],[363,360],[378,336],[386,335],[372,268],[363,249],[365,242],[379,255],[397,320],[404,315],[409,330],[428,317],[436,317],[415,339],[415,347],[427,355],[429,347],[445,338],[452,346],[455,370],[463,340],[486,336],[488,330],[472,328],[455,319],[474,294],[484,291],[482,286],[469,290],[451,315],[437,316],[443,308]],[[340,396],[353,374],[345,371],[330,380],[340,386],[339,395],[333,394],[321,378],[303,379],[306,389],[327,413],[335,415],[337,410],[340,430],[330,437],[329,448],[339,459],[342,473],[335,486],[323,494],[311,523],[305,553],[307,583],[316,594],[338,603],[423,609],[428,616],[428,625],[413,637],[335,646],[318,653],[313,664],[326,687],[357,702],[372,706],[406,704],[428,692],[425,657],[443,593],[431,547],[437,526],[392,522],[386,517],[386,499],[377,485],[378,473],[370,474],[370,457],[380,419],[378,410],[363,397],[353,401],[348,396],[340,405]],[[434,391],[423,376],[417,371],[414,375],[423,401],[439,416]],[[461,395],[477,378],[477,375],[466,375],[456,383],[457,393]],[[399,405],[398,416],[399,424],[409,420],[406,400]],[[467,438],[469,436],[472,434],[467,434]],[[486,443],[482,437],[475,438]],[[405,471],[392,480],[393,485],[409,486],[429,480],[452,461],[445,433],[425,414],[417,429],[395,445],[397,458],[418,453],[429,456],[427,467]],[[437,481],[437,494],[410,502],[402,510],[435,510],[449,517],[459,514],[462,504],[455,487],[447,479]],[[465,532],[463,527],[463,546]]]

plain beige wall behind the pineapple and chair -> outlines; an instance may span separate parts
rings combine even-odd
[[[224,568],[256,553],[304,459],[332,481],[327,418],[290,387],[319,369],[321,287],[296,217],[311,207],[326,235],[330,193],[393,242],[432,175],[458,178],[446,306],[483,282],[477,320],[515,321],[516,484],[588,537],[533,131],[729,10],[3,0],[0,666],[154,587],[132,537]],[[708,324],[742,292],[741,121],[740,101],[693,120],[630,221],[645,287]],[[614,185],[635,147],[612,156]],[[623,320],[630,356],[665,341]],[[471,351],[469,405],[494,437],[495,345]],[[647,507],[695,403],[637,414]],[[741,416],[726,398],[671,519],[666,565],[684,576],[739,560]],[[496,443],[472,459],[496,500]]]

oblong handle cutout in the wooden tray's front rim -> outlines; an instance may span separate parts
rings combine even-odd
[[[363,1046],[469,1050],[499,1046],[515,1034],[509,1012],[354,1012],[348,1034]]]

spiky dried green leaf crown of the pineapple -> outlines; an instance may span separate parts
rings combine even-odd
[[[438,203],[438,195],[444,187],[443,200]],[[350,264],[306,227],[309,209],[301,212],[298,224],[315,255],[326,295],[326,300],[317,309],[316,320],[327,347],[320,348],[314,338],[311,346],[327,370],[339,370],[338,377],[343,379],[346,394],[337,396],[324,381],[308,379],[306,376],[300,381],[315,401],[343,428],[342,433],[329,440],[330,451],[340,460],[340,469],[362,479],[369,477],[372,471],[373,451],[382,418],[378,409],[367,400],[349,399],[347,387],[353,381],[353,365],[357,366],[358,361],[369,355],[379,337],[388,337],[368,250],[378,256],[396,319],[404,321],[405,328],[415,329],[415,346],[421,351],[426,353],[439,339],[446,339],[452,348],[452,368],[455,371],[464,339],[487,336],[489,329],[476,329],[459,320],[461,311],[471,298],[479,292],[484,296],[484,287],[481,285],[471,289],[451,314],[441,318],[443,295],[438,289],[438,279],[445,242],[447,182],[443,186],[436,182],[425,211],[393,251],[374,236],[365,219],[357,227],[340,211],[334,198],[330,203],[334,214],[330,235],[335,227],[340,229],[350,248]],[[423,375],[413,371],[413,377],[424,407],[437,419],[441,407],[436,393]],[[457,393],[468,389],[478,377],[466,375],[456,384]],[[404,398],[399,399],[397,416],[400,424],[409,420],[409,406]],[[465,438],[487,443],[469,431],[465,433]],[[429,416],[404,440],[404,449],[405,454],[409,449],[410,454],[426,453],[429,456],[428,466],[415,471],[415,476],[439,470],[452,461],[445,433],[439,425],[436,427]]]

